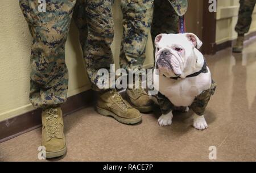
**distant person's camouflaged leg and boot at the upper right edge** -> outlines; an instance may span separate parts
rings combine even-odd
[[[238,22],[236,32],[238,33],[236,45],[233,47],[233,52],[241,53],[243,50],[244,35],[251,26],[251,15],[253,14],[256,0],[240,0],[240,9],[238,14]]]

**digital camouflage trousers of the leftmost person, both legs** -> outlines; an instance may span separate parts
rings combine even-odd
[[[47,108],[64,103],[68,91],[68,69],[65,64],[65,42],[75,0],[46,1],[46,12],[39,12],[38,1],[20,0],[20,7],[33,37],[31,49],[30,100],[34,107]],[[82,3],[83,1],[78,1]],[[95,84],[95,73],[110,68],[110,44],[113,40],[113,1],[84,1],[80,40],[89,78]],[[104,14],[104,16],[102,16]],[[84,29],[84,30],[82,30]],[[85,39],[88,35],[88,39]]]

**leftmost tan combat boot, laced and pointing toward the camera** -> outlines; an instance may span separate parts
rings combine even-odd
[[[60,107],[42,112],[42,146],[46,147],[46,158],[55,158],[67,152],[63,132],[63,116]]]

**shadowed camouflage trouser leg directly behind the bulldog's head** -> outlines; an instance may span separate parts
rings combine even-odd
[[[179,33],[179,16],[168,0],[154,1],[154,18],[151,27],[153,43],[160,33]]]

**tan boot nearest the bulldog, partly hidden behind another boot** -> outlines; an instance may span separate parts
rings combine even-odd
[[[141,85],[140,85],[141,87]],[[147,92],[143,88],[127,89],[126,94],[131,106],[141,112],[150,112],[153,110],[154,102],[150,99]]]

